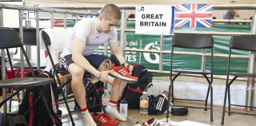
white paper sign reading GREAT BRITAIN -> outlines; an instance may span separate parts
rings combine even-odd
[[[174,6],[136,6],[135,33],[174,34]]]

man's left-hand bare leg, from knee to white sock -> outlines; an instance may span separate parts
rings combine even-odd
[[[86,89],[82,83],[82,78],[85,70],[76,64],[70,64],[69,72],[72,77],[71,87],[76,100],[81,108],[82,118],[86,126],[96,126],[93,118],[90,116],[90,112],[87,110],[86,106]]]

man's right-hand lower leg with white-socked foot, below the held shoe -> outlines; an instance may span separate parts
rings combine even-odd
[[[126,118],[121,116],[117,109],[118,99],[122,93],[122,90],[126,87],[126,82],[120,81],[119,79],[114,79],[114,87],[112,87],[112,94],[110,97],[110,102],[106,106],[106,112],[111,116],[114,116],[118,120],[126,121]]]

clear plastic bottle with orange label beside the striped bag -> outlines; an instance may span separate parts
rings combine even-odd
[[[139,107],[140,116],[148,115],[148,106],[149,106],[149,98],[146,96],[146,92],[143,92],[143,95],[140,98],[140,107]]]

